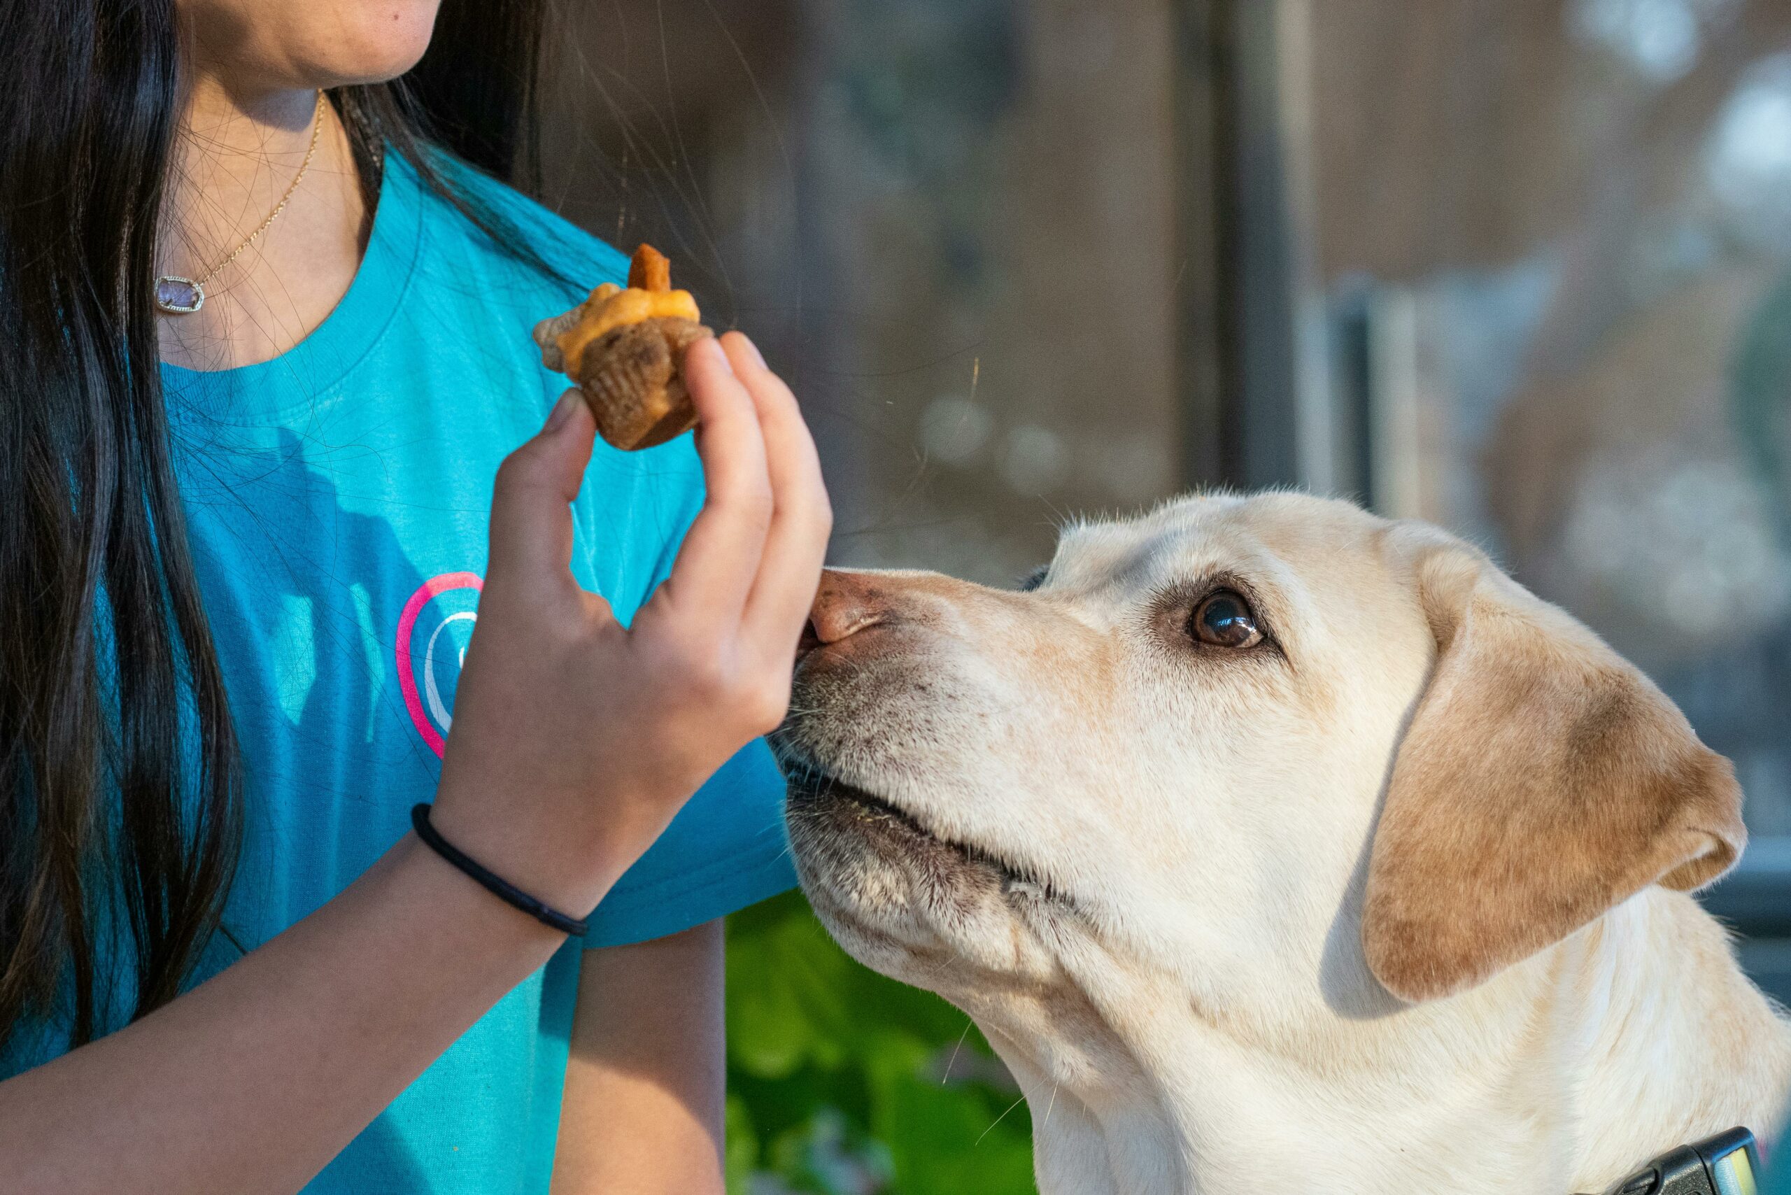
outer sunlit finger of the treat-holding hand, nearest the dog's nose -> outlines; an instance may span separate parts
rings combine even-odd
[[[815,439],[802,421],[795,394],[765,367],[747,337],[731,331],[722,337],[722,348],[758,407],[772,489],[772,523],[741,629],[783,656],[786,647],[795,650],[802,620],[815,602],[827,534],[833,530],[833,509]]]

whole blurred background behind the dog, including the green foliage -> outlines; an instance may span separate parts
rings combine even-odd
[[[1481,543],[1730,756],[1791,994],[1791,0],[614,0],[548,201],[795,385],[835,561],[1302,486]],[[1030,1191],[967,1018],[738,916],[740,1195]]]

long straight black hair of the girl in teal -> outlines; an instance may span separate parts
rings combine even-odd
[[[412,72],[330,93],[369,204],[398,152],[532,258],[432,158],[532,190],[543,20],[446,0]],[[32,1016],[93,1037],[113,899],[133,1016],[172,1000],[240,846],[150,305],[179,54],[174,0],[0,0],[0,1041]]]

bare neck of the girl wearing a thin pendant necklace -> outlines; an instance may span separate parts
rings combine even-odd
[[[156,272],[199,279],[242,245],[297,176],[315,118],[313,90],[247,91],[193,72],[168,168]],[[371,217],[347,133],[324,104],[317,149],[279,219],[204,283],[201,310],[159,317],[161,358],[231,369],[290,349],[347,290]]]

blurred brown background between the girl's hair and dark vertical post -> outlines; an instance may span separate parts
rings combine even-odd
[[[1008,582],[1177,489],[1168,4],[571,16],[548,195],[795,382],[836,561]]]

